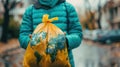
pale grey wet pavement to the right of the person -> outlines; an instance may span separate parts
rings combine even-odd
[[[83,41],[81,46],[73,50],[73,54],[75,67],[111,67],[112,55],[109,47],[93,46]]]

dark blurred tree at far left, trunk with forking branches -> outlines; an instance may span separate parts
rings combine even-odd
[[[15,0],[2,0],[2,4],[4,6],[4,21],[2,24],[2,42],[7,42],[7,35],[8,35],[8,25],[9,25],[9,11],[15,7],[16,1]]]

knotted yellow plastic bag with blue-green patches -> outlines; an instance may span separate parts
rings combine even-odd
[[[68,59],[65,34],[43,15],[41,24],[34,30],[24,55],[24,67],[71,67]]]

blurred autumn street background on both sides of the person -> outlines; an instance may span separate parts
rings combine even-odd
[[[67,0],[76,8],[83,29],[73,50],[75,67],[120,67],[120,0]],[[23,67],[25,50],[19,28],[34,0],[0,0],[0,67]]]

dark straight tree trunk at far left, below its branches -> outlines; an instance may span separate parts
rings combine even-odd
[[[4,13],[4,21],[2,25],[2,42],[7,42],[7,35],[8,35],[8,25],[9,25],[9,8],[8,8],[9,0],[6,0],[6,3],[4,4],[5,13]]]

